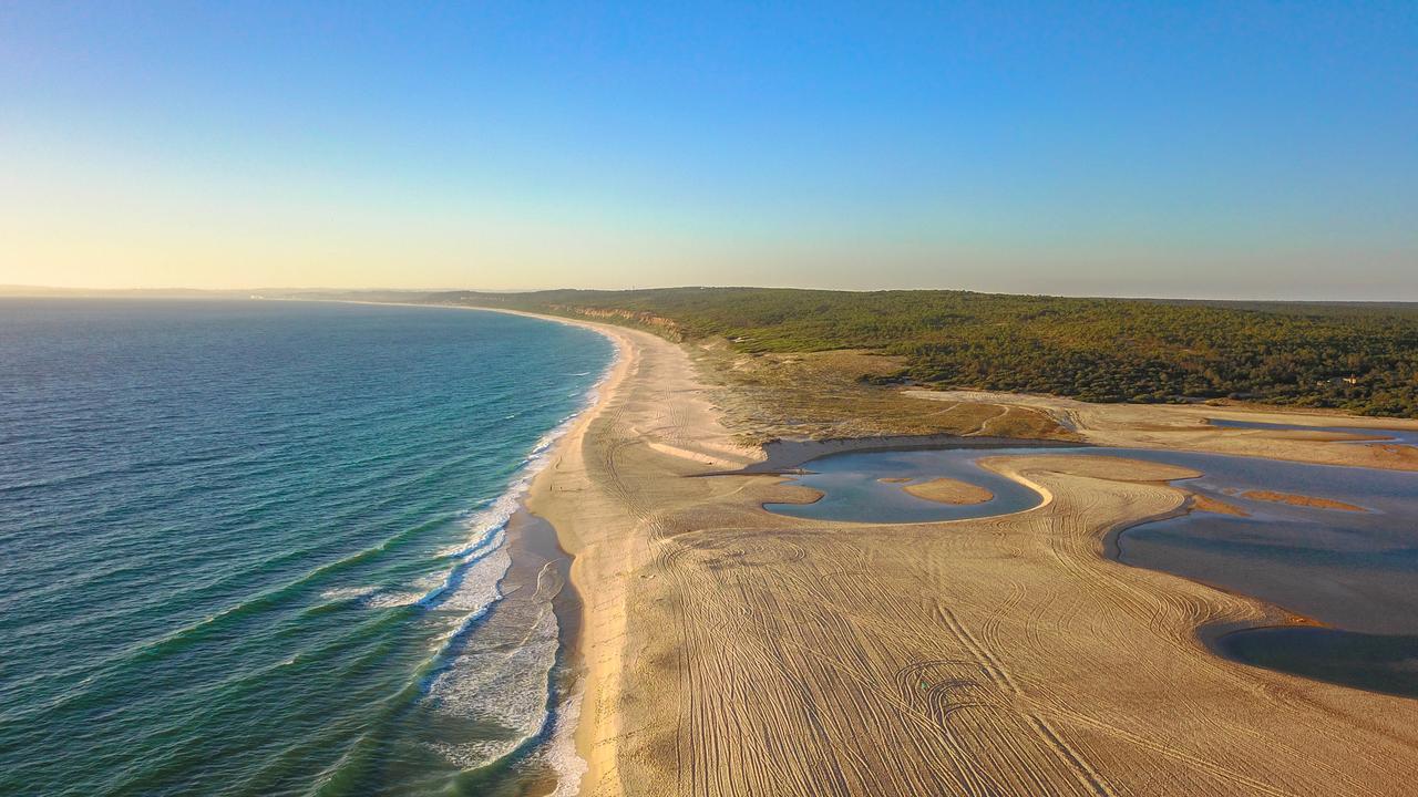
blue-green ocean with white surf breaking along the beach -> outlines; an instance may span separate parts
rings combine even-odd
[[[574,596],[508,520],[614,357],[455,308],[0,299],[0,794],[543,794]]]

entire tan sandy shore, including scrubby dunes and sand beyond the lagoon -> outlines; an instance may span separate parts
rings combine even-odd
[[[664,326],[625,316],[603,323],[372,296],[269,299],[482,309],[586,328],[614,343],[594,396],[542,452],[545,467],[519,499],[571,556],[580,596],[567,651],[580,665],[579,698],[557,712],[576,725],[552,733],[554,745],[570,735],[584,770],[559,764],[559,793],[577,777],[581,793],[597,796],[807,796],[822,791],[822,779],[862,794],[1071,793],[1081,784],[1122,793],[1157,777],[1188,793],[1214,790],[1217,779],[1229,791],[1286,783],[1383,793],[1418,777],[1402,698],[1217,655],[1221,634],[1312,620],[1204,577],[1115,557],[1137,523],[1215,506],[1188,492],[1200,468],[1151,461],[1147,451],[1397,474],[1418,468],[1398,437],[1333,430],[1407,435],[1418,421],[920,390],[838,379],[841,369],[881,364],[872,355],[744,353],[705,336],[672,340]],[[725,377],[735,367],[749,379]],[[754,381],[774,369],[790,377]],[[881,431],[920,418],[950,424],[954,437]],[[764,430],[778,442],[764,444]],[[1010,450],[986,467],[1045,501],[925,522],[763,509],[801,501],[804,488],[784,484],[784,471],[804,458],[942,444]],[[1086,445],[1134,454],[1092,457]],[[1317,501],[1262,501],[1248,503],[1248,516],[1316,508],[1326,511]],[[510,523],[508,533],[525,528]],[[841,750],[859,750],[872,766],[845,766]],[[1336,756],[1354,764],[1327,767]]]

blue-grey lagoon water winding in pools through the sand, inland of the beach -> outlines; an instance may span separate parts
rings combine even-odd
[[[1038,494],[984,469],[980,459],[1037,454],[1037,448],[835,454],[805,464],[808,472],[795,478],[795,484],[821,491],[820,501],[767,509],[798,518],[886,523],[1020,512],[1037,506]],[[1178,486],[1241,513],[1191,512],[1134,526],[1119,536],[1119,557],[1255,596],[1329,625],[1238,631],[1218,642],[1225,655],[1418,696],[1418,474],[1133,448],[1055,448],[1048,454],[1127,457],[1201,472]],[[994,498],[949,505],[902,489],[903,484],[939,476],[984,486]],[[1246,495],[1252,491],[1327,499],[1363,511],[1259,501]]]

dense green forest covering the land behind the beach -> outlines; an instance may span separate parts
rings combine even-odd
[[[767,288],[442,294],[601,315],[747,352],[900,355],[898,380],[1088,401],[1245,398],[1418,416],[1418,308]]]

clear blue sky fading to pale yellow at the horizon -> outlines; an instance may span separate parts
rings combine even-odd
[[[0,284],[1418,301],[1418,3],[0,3]]]

